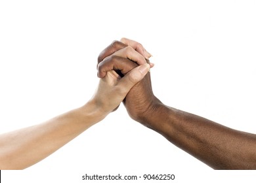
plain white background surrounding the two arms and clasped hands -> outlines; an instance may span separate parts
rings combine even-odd
[[[121,37],[154,56],[152,85],[165,105],[256,133],[255,33],[255,1],[0,1],[0,133],[83,105],[98,83],[98,54]],[[36,165],[2,172],[2,181],[84,182],[85,173],[255,180],[255,171],[211,170],[121,105]]]

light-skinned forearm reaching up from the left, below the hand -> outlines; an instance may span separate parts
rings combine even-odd
[[[89,102],[43,124],[0,135],[0,169],[25,169],[41,161],[106,115]]]

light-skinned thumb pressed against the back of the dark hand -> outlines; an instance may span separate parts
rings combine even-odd
[[[139,65],[138,67],[135,67],[135,69],[132,69],[129,73],[127,73],[121,80],[119,80],[119,87],[125,88],[127,92],[137,84],[148,71],[150,70],[150,65],[148,63],[144,63],[143,65]]]

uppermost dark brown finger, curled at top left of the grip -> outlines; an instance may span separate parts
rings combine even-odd
[[[106,47],[100,55],[98,56],[98,63],[100,63],[104,58],[112,55],[117,50],[125,48],[127,45],[120,41],[113,41],[108,47]]]

